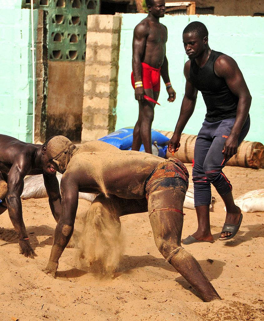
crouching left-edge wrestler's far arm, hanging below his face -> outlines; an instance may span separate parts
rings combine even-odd
[[[56,174],[45,175],[43,174],[44,185],[46,187],[47,194],[49,196],[49,204],[52,215],[58,223],[61,214],[61,196],[59,182]]]

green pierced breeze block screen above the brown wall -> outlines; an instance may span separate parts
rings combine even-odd
[[[22,0],[22,8],[30,4]],[[99,13],[100,0],[33,0],[33,8],[48,12],[48,59],[85,60],[87,15]]]

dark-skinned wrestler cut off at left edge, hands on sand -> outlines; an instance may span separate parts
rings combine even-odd
[[[50,139],[50,138],[49,138]],[[58,222],[60,217],[60,188],[54,166],[46,158],[46,146],[24,143],[16,138],[0,135],[0,197],[1,213],[5,201],[12,224],[18,233],[20,254],[34,258],[22,216],[20,196],[26,175],[43,174],[52,215]]]

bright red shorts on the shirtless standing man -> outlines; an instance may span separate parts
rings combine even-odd
[[[141,79],[144,89],[160,91],[160,68],[153,68],[144,62],[141,63]],[[131,74],[131,83],[135,89],[135,80],[133,72]]]

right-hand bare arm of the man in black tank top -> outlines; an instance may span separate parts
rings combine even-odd
[[[236,120],[223,148],[224,156],[229,159],[237,153],[238,137],[248,117],[251,95],[233,58],[221,55],[214,64],[214,70],[218,77],[225,79],[230,91],[238,97]]]

